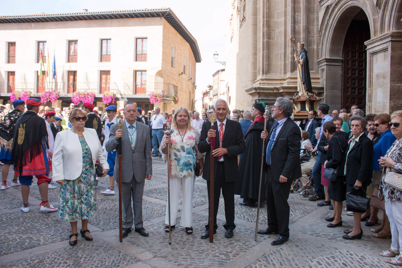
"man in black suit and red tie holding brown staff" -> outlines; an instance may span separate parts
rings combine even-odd
[[[228,104],[224,99],[217,99],[215,102],[215,114],[217,121],[214,123],[215,130],[210,129],[211,123],[204,122],[201,129],[201,136],[198,143],[198,150],[206,153],[204,162],[203,179],[207,181],[208,199],[209,199],[209,173],[211,152],[211,139],[215,139],[215,147],[212,151],[214,156],[214,222],[213,233],[218,227],[216,223],[216,215],[219,207],[219,196],[224,196],[226,229],[225,237],[232,238],[234,224],[234,188],[236,180],[239,178],[237,155],[244,153],[246,146],[244,145],[242,127],[239,122],[226,118],[228,114]],[[300,147],[300,143],[299,143]],[[288,189],[289,190],[289,189]],[[201,236],[202,239],[209,237],[209,224],[205,225],[205,232]]]

